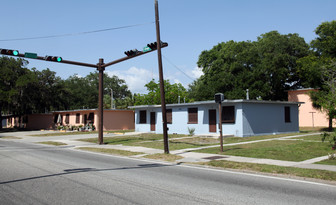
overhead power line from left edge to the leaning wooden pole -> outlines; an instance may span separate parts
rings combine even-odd
[[[38,36],[38,37],[25,37],[25,38],[0,39],[0,41],[24,41],[24,40],[47,39],[47,38],[60,38],[60,37],[66,37],[66,36],[79,36],[79,35],[100,33],[100,32],[119,30],[119,29],[125,29],[125,28],[132,28],[132,27],[143,26],[143,25],[148,25],[148,24],[154,24],[154,22],[106,28],[106,29],[100,29],[100,30],[94,30],[94,31],[84,31],[84,32],[78,32],[78,33],[68,33],[68,34],[58,34],[58,35],[49,35],[49,36]]]

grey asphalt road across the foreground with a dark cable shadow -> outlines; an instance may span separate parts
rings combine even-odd
[[[335,204],[336,186],[0,139],[0,204]]]

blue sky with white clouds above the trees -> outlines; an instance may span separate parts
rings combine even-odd
[[[335,0],[158,0],[164,78],[185,87],[201,73],[198,56],[220,42],[254,41],[263,33],[298,33],[306,42],[315,28],[336,20]],[[0,48],[55,55],[96,64],[124,57],[156,41],[154,0],[16,0],[1,2]],[[74,34],[135,24],[142,26],[87,35],[38,40],[4,41]],[[167,60],[168,59],[168,60]],[[173,65],[172,65],[172,64]],[[179,69],[183,70],[183,74]],[[86,76],[94,69],[29,59],[29,68],[49,68],[63,79]],[[109,75],[125,79],[132,92],[145,93],[144,84],[158,79],[157,53],[152,52],[108,67]]]

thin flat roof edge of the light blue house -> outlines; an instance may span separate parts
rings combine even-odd
[[[254,103],[254,104],[304,104],[304,102],[290,102],[290,101],[267,101],[267,100],[244,100],[244,99],[238,99],[238,100],[224,100],[222,104],[237,104],[237,103]],[[197,105],[211,105],[211,104],[217,104],[215,100],[209,100],[209,101],[198,101],[198,102],[192,102],[192,103],[180,103],[180,104],[167,104],[166,107],[181,107],[181,106],[197,106]],[[161,107],[161,105],[136,105],[136,106],[129,106],[128,108],[131,109],[139,109],[139,108],[157,108]]]

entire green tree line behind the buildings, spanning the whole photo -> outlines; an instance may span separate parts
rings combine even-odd
[[[312,87],[313,103],[332,122],[336,117],[336,21],[324,22],[317,37],[307,44],[298,34],[271,31],[256,41],[227,41],[203,51],[197,65],[203,75],[189,85],[165,80],[166,103],[212,100],[224,93],[225,99],[242,99],[249,89],[250,99],[287,100],[287,90]],[[0,118],[2,114],[22,115],[62,109],[97,108],[98,73],[77,74],[63,80],[45,69],[26,68],[21,58],[0,58]],[[145,87],[147,94],[133,94],[123,79],[104,74],[104,108],[111,108],[113,91],[116,108],[160,104],[159,83]]]

